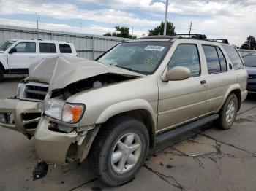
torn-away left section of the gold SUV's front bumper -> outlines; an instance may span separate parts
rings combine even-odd
[[[0,100],[0,127],[16,130],[30,138],[34,136],[41,113],[41,102],[21,101],[15,98]]]

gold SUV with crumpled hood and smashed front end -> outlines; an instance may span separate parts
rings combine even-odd
[[[0,101],[0,125],[34,136],[45,164],[88,158],[106,184],[124,184],[156,143],[211,121],[233,125],[247,73],[235,47],[214,41],[148,36],[96,61],[45,58]]]

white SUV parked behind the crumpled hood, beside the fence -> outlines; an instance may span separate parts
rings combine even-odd
[[[0,44],[0,81],[4,74],[28,74],[31,63],[52,55],[77,55],[69,42],[11,39]]]

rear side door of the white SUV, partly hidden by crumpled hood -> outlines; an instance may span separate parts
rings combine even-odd
[[[56,44],[48,42],[39,42],[38,60],[47,58],[49,56],[57,55]]]

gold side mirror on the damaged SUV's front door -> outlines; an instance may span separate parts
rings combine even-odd
[[[164,74],[164,81],[184,80],[190,77],[190,69],[183,66],[175,66]]]

